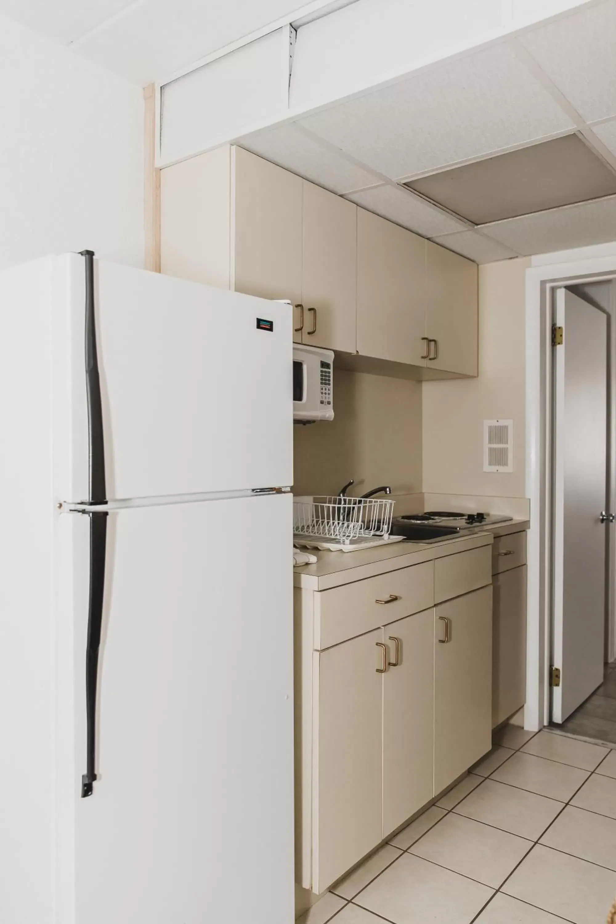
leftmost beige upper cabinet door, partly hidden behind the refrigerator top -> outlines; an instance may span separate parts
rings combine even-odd
[[[237,147],[232,148],[232,177],[232,287],[298,305],[304,181]],[[301,331],[295,330],[301,326],[300,313],[294,311],[296,342],[301,341]]]

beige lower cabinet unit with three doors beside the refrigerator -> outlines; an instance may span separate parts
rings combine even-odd
[[[297,877],[315,893],[489,751],[490,549],[449,557],[296,590]]]

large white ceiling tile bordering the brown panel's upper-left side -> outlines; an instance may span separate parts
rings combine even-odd
[[[338,103],[300,124],[393,179],[574,128],[503,44]]]

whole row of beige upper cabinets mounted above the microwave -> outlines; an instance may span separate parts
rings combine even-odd
[[[477,375],[475,263],[234,145],[162,171],[161,267],[288,300],[296,343],[381,374]]]

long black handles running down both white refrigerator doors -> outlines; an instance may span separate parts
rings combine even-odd
[[[107,488],[104,468],[103,402],[96,349],[94,305],[94,253],[81,250],[86,271],[85,360],[88,400],[88,449],[90,458],[89,504],[105,505]],[[81,777],[81,797],[91,796],[96,779],[96,699],[98,692],[99,650],[103,626],[104,571],[107,548],[106,511],[88,511],[90,517],[90,599],[86,647],[86,772]]]

